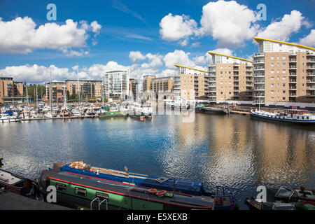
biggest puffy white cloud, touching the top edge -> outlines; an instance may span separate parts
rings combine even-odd
[[[209,2],[202,8],[202,35],[218,40],[218,47],[237,48],[253,38],[258,29],[253,10],[236,1]]]

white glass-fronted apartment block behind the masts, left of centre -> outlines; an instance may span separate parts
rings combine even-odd
[[[106,71],[104,91],[109,98],[125,99],[129,94],[129,70]]]

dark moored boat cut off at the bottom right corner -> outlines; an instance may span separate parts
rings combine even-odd
[[[314,190],[265,186],[265,201],[246,197],[244,203],[250,210],[314,210]]]

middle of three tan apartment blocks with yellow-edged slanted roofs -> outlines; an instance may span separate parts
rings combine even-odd
[[[253,62],[241,57],[208,52],[212,56],[209,64],[209,101],[252,101]]]

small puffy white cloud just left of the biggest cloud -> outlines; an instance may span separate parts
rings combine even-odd
[[[161,38],[165,41],[179,41],[187,38],[197,31],[197,22],[190,19],[187,15],[165,15],[160,22]],[[187,41],[186,41],[187,42]],[[185,40],[183,42],[185,44]],[[187,43],[186,43],[187,45]]]

